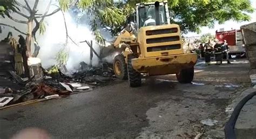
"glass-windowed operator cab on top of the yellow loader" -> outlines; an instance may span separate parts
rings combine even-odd
[[[172,12],[171,12],[171,15]],[[136,28],[144,26],[170,24],[170,13],[167,2],[136,4]]]

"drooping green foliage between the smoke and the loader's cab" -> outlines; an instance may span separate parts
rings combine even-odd
[[[96,36],[96,41],[102,45],[105,45],[105,39],[101,36],[98,29],[103,28],[115,36],[123,29],[126,17],[133,10],[125,6],[122,1],[113,0],[59,0],[59,5],[63,11],[67,11],[70,7],[75,6],[84,10],[86,15],[90,15],[91,30]]]

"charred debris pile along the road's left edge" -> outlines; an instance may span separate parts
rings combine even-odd
[[[21,88],[18,90],[9,87],[1,88],[0,107],[35,99],[48,100],[92,91],[96,85],[114,80],[114,73],[110,67],[111,65],[108,64],[102,64],[102,67],[91,67],[81,62],[79,70],[73,74],[68,74],[61,68],[57,73],[49,73],[50,69],[44,70],[43,80],[34,80],[35,77],[21,78],[16,72],[9,71],[10,78]]]

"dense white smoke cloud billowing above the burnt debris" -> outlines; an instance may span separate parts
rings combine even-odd
[[[92,40],[95,51],[99,53],[100,50],[99,45],[95,43],[96,41],[88,25],[77,25],[68,12],[64,15],[68,28],[68,34],[76,43],[75,44],[68,39],[68,45],[66,47],[66,50],[69,52],[69,59],[66,67],[69,71],[73,71],[79,67],[80,62],[84,61],[87,64],[90,62],[90,47],[86,43],[79,43],[80,41]],[[64,18],[61,12],[49,17],[48,24],[49,25],[47,26],[44,36],[39,39],[39,44],[42,47],[39,51],[38,57],[42,59],[42,64],[45,67],[49,67],[56,63],[56,54],[61,48],[64,47],[63,44],[66,41]],[[94,66],[98,64],[98,58],[96,55],[93,55],[92,64]]]

